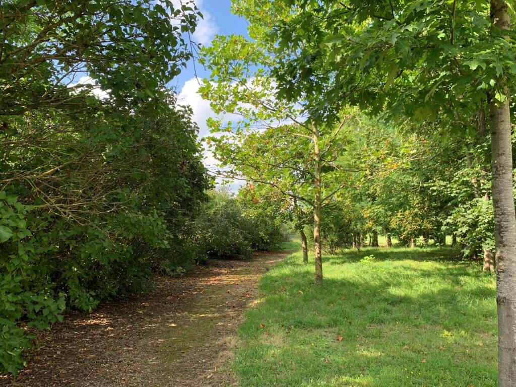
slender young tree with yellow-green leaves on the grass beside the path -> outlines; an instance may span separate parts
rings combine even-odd
[[[211,47],[203,50],[202,63],[211,70],[211,77],[200,89],[203,98],[211,101],[217,114],[240,117],[227,123],[211,119],[212,131],[219,135],[209,141],[217,144],[215,154],[222,167],[236,168],[220,171],[224,175],[233,178],[239,175],[253,183],[272,185],[283,195],[313,207],[315,282],[321,283],[321,207],[346,185],[338,183],[343,181],[340,179],[323,183],[321,170],[326,167],[333,173],[337,171],[334,161],[340,153],[335,149],[336,139],[347,117],[341,115],[336,125],[319,126],[310,115],[301,114],[299,101],[279,100],[270,77],[274,62],[271,48],[263,40],[252,42],[241,36],[219,36]],[[322,191],[332,183],[337,187],[328,188],[325,197]],[[298,195],[293,190],[299,184],[305,192],[307,186],[311,187],[309,196]]]

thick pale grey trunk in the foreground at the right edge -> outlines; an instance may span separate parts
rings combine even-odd
[[[507,3],[491,0],[493,28],[509,29]],[[491,168],[496,244],[496,305],[498,310],[498,386],[516,386],[516,213],[512,191],[512,148],[509,93],[489,101],[491,117]]]

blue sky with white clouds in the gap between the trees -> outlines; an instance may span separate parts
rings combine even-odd
[[[178,3],[181,0],[173,0]],[[196,0],[204,19],[200,20],[197,29],[193,34],[193,40],[203,45],[209,45],[216,34],[230,35],[241,34],[247,36],[247,22],[231,13],[231,0]],[[196,78],[196,74],[197,77]],[[198,62],[190,61],[188,67],[176,77],[170,86],[178,92],[178,103],[189,105],[193,112],[193,121],[199,126],[199,138],[209,134],[206,126],[206,119],[213,115],[209,103],[204,101],[198,94],[199,83],[203,77],[208,77],[209,73]],[[209,152],[204,152],[204,165],[208,169],[213,169],[215,160]],[[235,182],[229,185],[231,191],[235,191],[242,182]]]

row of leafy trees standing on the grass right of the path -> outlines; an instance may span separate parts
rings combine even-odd
[[[204,51],[202,89],[216,112],[242,117],[211,121],[220,173],[271,187],[300,220],[313,214],[316,283],[324,207],[348,214],[338,220],[351,234],[453,233],[487,269],[495,255],[503,387],[516,385],[512,6],[234,0],[250,39]]]

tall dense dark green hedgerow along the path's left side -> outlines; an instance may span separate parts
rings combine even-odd
[[[0,372],[25,326],[141,293],[192,244],[209,179],[166,84],[197,12],[158,3],[0,6]]]

